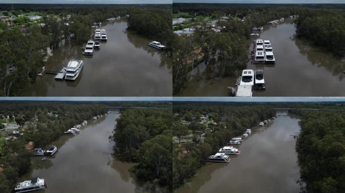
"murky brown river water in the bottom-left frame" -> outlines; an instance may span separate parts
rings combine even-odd
[[[81,129],[76,136],[62,136],[54,141],[58,151],[46,161],[42,157],[32,158],[32,170],[21,180],[41,177],[47,189],[37,191],[57,192],[136,192],[140,186],[128,171],[133,164],[114,160],[112,135],[119,111],[93,121]],[[38,166],[40,165],[40,166]]]

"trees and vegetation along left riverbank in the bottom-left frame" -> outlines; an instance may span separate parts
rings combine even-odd
[[[2,192],[12,192],[19,176],[29,170],[30,149],[43,147],[83,120],[106,113],[104,105],[100,104],[50,104],[50,105],[6,105],[0,108],[0,115],[14,116],[20,131],[17,139],[2,141],[0,145],[0,189]],[[3,144],[2,144],[3,143]]]

